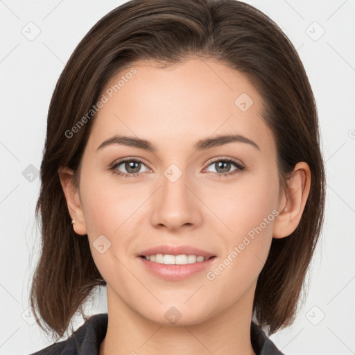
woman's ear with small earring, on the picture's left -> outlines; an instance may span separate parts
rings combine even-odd
[[[60,167],[58,169],[58,174],[60,178],[60,184],[62,184],[62,189],[64,191],[64,196],[67,200],[69,214],[73,223],[73,228],[76,234],[85,235],[87,234],[87,227],[85,225],[85,218],[83,213],[83,207],[80,203],[79,189],[75,186],[73,182],[73,171],[67,167]]]

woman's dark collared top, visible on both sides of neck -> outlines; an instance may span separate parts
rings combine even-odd
[[[53,343],[31,355],[98,355],[101,342],[106,336],[107,322],[107,313],[92,315],[67,340]],[[254,322],[251,324],[250,336],[257,355],[284,355]]]

